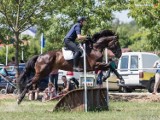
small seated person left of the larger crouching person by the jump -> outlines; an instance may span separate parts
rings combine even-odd
[[[52,82],[48,83],[48,87],[44,90],[42,101],[51,100],[56,96],[56,90]]]

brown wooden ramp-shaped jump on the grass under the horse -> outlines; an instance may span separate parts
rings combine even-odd
[[[87,89],[87,108],[92,110],[108,110],[106,88]],[[68,92],[56,104],[54,110],[84,111],[84,89]]]

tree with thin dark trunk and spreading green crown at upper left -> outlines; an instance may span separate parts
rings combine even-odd
[[[0,26],[9,28],[14,34],[16,66],[18,66],[20,33],[50,14],[54,10],[54,3],[53,0],[0,1]]]

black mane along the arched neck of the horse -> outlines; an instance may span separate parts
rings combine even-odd
[[[100,37],[104,37],[104,36],[114,36],[116,35],[115,32],[111,31],[111,30],[102,30],[98,33],[95,33],[93,36],[92,36],[92,40],[93,41],[97,41]]]

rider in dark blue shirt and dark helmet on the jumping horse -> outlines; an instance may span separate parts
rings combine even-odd
[[[78,68],[79,57],[81,56],[81,49],[77,46],[75,40],[86,40],[88,36],[81,35],[81,29],[86,24],[86,17],[78,17],[77,23],[72,26],[64,38],[65,46],[74,52],[73,71],[80,71]]]

